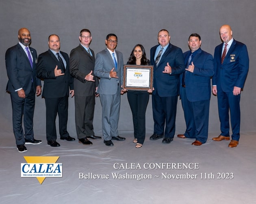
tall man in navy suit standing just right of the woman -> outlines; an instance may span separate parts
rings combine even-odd
[[[150,140],[163,138],[164,144],[169,144],[174,138],[179,77],[185,70],[182,50],[171,45],[170,39],[167,30],[160,30],[159,45],[150,49],[150,63],[154,66],[152,93],[154,133]]]

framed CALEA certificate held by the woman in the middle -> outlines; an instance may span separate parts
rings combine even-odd
[[[153,66],[124,65],[123,89],[148,91],[153,87]]]

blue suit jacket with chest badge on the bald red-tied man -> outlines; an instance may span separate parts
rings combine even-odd
[[[249,56],[246,45],[234,40],[221,64],[222,46],[223,43],[214,51],[213,85],[217,85],[217,90],[232,92],[235,86],[243,88],[249,70]]]

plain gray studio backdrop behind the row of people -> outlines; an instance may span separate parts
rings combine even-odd
[[[230,24],[233,37],[247,45],[250,68],[241,94],[241,132],[255,131],[255,86],[254,68],[256,50],[255,0],[0,0],[0,128],[1,132],[12,132],[11,100],[5,93],[7,74],[5,51],[17,44],[17,31],[26,27],[32,37],[31,47],[40,54],[48,49],[48,36],[58,34],[61,50],[70,53],[78,46],[79,32],[88,28],[92,33],[91,49],[98,53],[105,48],[108,33],[118,36],[117,50],[128,59],[135,44],[144,45],[149,58],[150,48],[156,45],[157,33],[165,28],[171,34],[171,43],[187,51],[188,37],[197,32],[202,38],[202,49],[213,55],[216,45],[221,43],[219,28]],[[101,135],[101,104],[96,99],[94,129]],[[131,132],[132,116],[127,96],[121,96],[119,132]],[[146,113],[146,132],[153,132],[151,97]],[[45,136],[44,99],[36,99],[34,131]],[[180,100],[178,101],[176,134],[183,134],[185,123]],[[76,136],[74,122],[74,98],[69,98],[68,131]],[[217,97],[210,102],[209,132],[219,134]],[[38,138],[38,137],[36,137]],[[14,138],[13,138],[14,140]]]

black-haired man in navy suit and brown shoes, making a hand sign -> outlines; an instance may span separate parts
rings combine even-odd
[[[188,43],[190,50],[183,54],[186,71],[180,74],[180,98],[187,128],[177,136],[195,138],[192,145],[200,146],[208,138],[213,56],[200,48],[199,34],[191,34]]]

